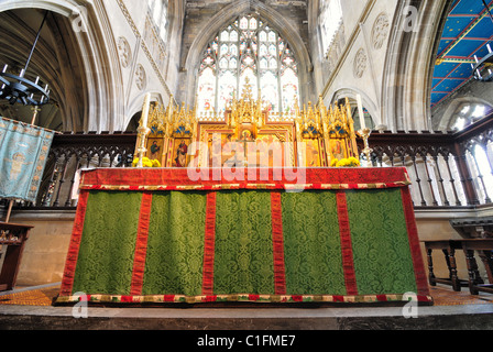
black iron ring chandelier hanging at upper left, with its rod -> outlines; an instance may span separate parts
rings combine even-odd
[[[8,100],[9,103],[22,103],[24,106],[40,107],[50,101],[48,85],[44,87],[40,82],[40,77],[35,81],[25,78],[25,74],[31,63],[37,41],[40,40],[41,30],[46,22],[48,11],[46,11],[40,30],[37,31],[31,53],[28,57],[24,68],[21,69],[19,76],[8,73],[9,65],[4,65],[0,73],[0,99]]]

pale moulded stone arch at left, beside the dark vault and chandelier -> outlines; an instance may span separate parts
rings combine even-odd
[[[66,131],[114,131],[123,128],[122,74],[113,31],[101,0],[15,0],[0,3],[0,12],[21,9],[48,10],[65,20],[59,23],[65,40],[74,48],[80,72],[79,109],[68,107]],[[81,116],[77,116],[81,114]]]

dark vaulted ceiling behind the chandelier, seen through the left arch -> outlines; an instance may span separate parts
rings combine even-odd
[[[19,9],[0,12],[0,65],[18,75],[25,65],[45,11]],[[46,18],[40,41],[33,53],[26,78],[36,76],[50,85],[50,103],[43,106],[35,123],[56,131],[78,131],[84,117],[84,87],[78,53],[73,43],[69,21],[54,12]],[[22,105],[0,101],[0,116],[30,123],[33,111]],[[76,122],[72,122],[72,120]]]

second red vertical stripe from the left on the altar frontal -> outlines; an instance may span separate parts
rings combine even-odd
[[[149,224],[151,222],[152,193],[142,195],[139,228],[136,233],[135,254],[133,257],[131,296],[142,295],[144,285],[145,257],[147,255]]]

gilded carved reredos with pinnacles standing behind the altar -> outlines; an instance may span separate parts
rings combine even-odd
[[[317,105],[308,102],[303,109],[296,105],[293,116],[284,121],[270,121],[261,95],[254,99],[251,86],[246,84],[241,98],[233,97],[229,103],[223,121],[215,122],[199,121],[196,106],[177,107],[173,101],[172,96],[166,108],[154,103],[149,118],[151,134],[147,144],[155,143],[163,148],[160,155],[163,155],[163,165],[167,167],[175,165],[173,161],[177,146],[184,143],[189,146],[193,142],[200,142],[198,155],[195,156],[198,157],[199,167],[210,166],[213,142],[223,147],[229,142],[246,146],[246,143],[260,145],[275,141],[285,152],[284,166],[305,166],[303,162],[307,162],[306,166],[324,167],[333,160],[359,157],[348,99],[342,105],[327,108],[322,97],[319,97]],[[161,140],[156,142],[156,139]],[[299,153],[305,153],[306,160]],[[226,154],[222,158],[230,161],[229,156]]]

